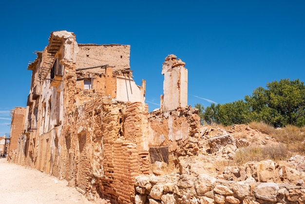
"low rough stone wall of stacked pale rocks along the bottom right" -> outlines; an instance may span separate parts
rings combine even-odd
[[[138,176],[135,204],[304,204],[304,186],[259,183],[253,177],[234,182],[207,174]]]

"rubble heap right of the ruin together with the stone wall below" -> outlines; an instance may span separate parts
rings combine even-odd
[[[267,142],[239,137],[245,134]],[[278,163],[266,160],[229,165],[238,149],[272,145],[274,141],[248,125],[233,125],[229,130],[201,126],[198,143],[203,145],[197,155],[178,158],[179,173],[135,178],[135,203],[303,204],[304,156],[296,155]]]

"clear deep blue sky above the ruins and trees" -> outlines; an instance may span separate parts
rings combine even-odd
[[[0,11],[0,136],[10,132],[9,110],[26,106],[27,64],[52,31],[74,32],[78,43],[130,44],[150,111],[169,54],[186,62],[192,106],[241,100],[275,80],[305,82],[304,0],[5,0]]]

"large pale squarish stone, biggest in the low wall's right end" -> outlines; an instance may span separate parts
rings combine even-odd
[[[259,199],[275,202],[279,189],[278,184],[262,183],[255,187],[254,195]]]

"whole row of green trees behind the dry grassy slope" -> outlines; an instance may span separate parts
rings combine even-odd
[[[197,103],[201,124],[232,125],[264,121],[274,127],[287,124],[305,126],[304,82],[283,79],[267,83],[266,87],[256,88],[251,96],[245,96],[245,101],[212,103],[206,108]]]

